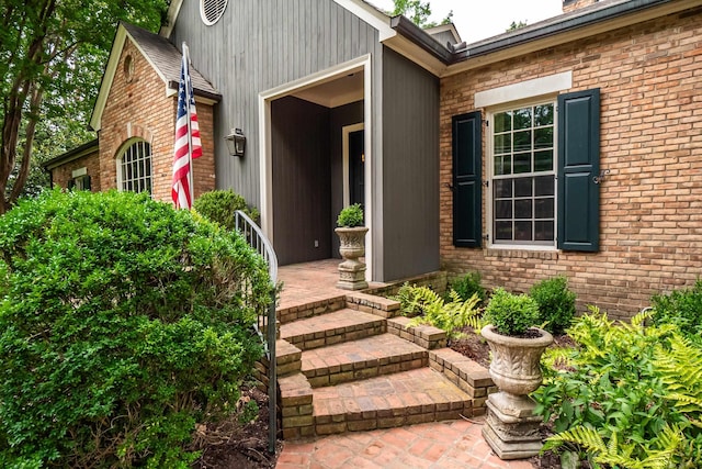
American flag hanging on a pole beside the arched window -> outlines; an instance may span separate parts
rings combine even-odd
[[[178,116],[176,118],[176,145],[173,150],[173,186],[171,197],[177,209],[190,209],[193,203],[192,160],[202,156],[197,111],[190,79],[190,57],[183,43],[183,62],[178,87]]]

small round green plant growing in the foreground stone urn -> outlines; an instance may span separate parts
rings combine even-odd
[[[496,288],[485,310],[485,321],[503,335],[522,335],[537,324],[539,305],[525,294]]]

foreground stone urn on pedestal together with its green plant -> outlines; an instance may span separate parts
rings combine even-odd
[[[490,346],[489,372],[499,392],[488,397],[483,437],[501,459],[532,457],[542,447],[541,417],[534,415],[536,404],[529,394],[542,383],[541,355],[553,336],[534,326],[534,299],[501,288],[495,289],[484,319],[488,325],[480,334]]]

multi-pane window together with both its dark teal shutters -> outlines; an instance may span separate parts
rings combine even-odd
[[[599,89],[454,115],[453,245],[598,250],[599,119]]]

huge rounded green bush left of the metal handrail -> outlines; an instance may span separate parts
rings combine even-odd
[[[263,260],[148,194],[48,191],[0,217],[0,466],[188,467],[261,356]]]

